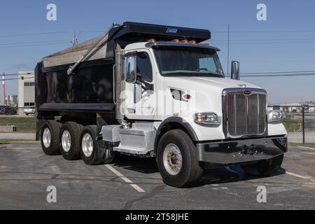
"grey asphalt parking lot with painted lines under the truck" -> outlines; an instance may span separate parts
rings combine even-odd
[[[290,148],[274,176],[239,167],[207,169],[194,188],[166,186],[153,159],[120,156],[113,165],[49,157],[40,144],[0,144],[0,209],[315,209],[315,149]],[[48,186],[57,203],[48,203]],[[267,203],[257,188],[267,188]]]

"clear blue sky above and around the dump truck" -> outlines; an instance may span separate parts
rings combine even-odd
[[[46,20],[48,3],[57,5],[56,22]],[[256,19],[258,3],[267,5],[267,21]],[[210,29],[225,72],[230,24],[230,60],[241,62],[241,72],[314,71],[314,14],[313,0],[1,1],[0,72],[33,70],[41,57],[69,47],[74,31],[83,41],[125,21]],[[17,36],[51,32],[58,33]],[[315,76],[243,80],[265,87],[271,103],[315,101]],[[7,94],[17,89],[7,82]]]

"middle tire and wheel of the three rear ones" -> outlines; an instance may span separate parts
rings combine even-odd
[[[60,151],[65,160],[80,159],[80,134],[83,126],[74,122],[62,125],[60,131]]]

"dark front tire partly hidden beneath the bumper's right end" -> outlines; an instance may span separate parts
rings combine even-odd
[[[244,165],[241,168],[244,172],[250,176],[262,176],[267,177],[274,174],[281,168],[284,155],[279,155],[276,158],[270,160],[262,160],[253,165]]]

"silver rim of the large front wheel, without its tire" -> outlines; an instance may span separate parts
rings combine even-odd
[[[175,144],[169,144],[163,153],[164,167],[169,174],[176,176],[181,172],[183,166],[183,157],[179,147]]]

